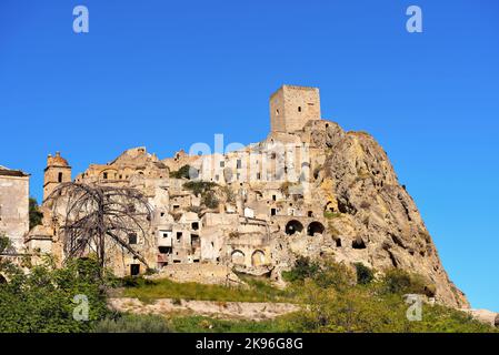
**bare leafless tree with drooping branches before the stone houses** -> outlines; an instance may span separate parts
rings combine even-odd
[[[129,242],[142,237],[151,244],[151,207],[141,192],[130,187],[61,184],[48,197],[54,215],[62,214],[63,246],[67,258],[96,253],[106,266],[107,253],[118,246],[149,267],[146,258]]]

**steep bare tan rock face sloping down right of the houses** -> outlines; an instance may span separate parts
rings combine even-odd
[[[362,262],[377,270],[398,267],[426,276],[430,296],[455,307],[469,307],[449,280],[418,209],[400,185],[383,149],[363,132],[337,124],[317,134],[329,153],[315,182],[330,207],[329,230],[342,245],[340,261]]]

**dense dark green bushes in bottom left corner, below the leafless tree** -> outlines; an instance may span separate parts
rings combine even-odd
[[[48,260],[27,274],[1,263],[0,273],[9,280],[0,284],[0,332],[89,332],[109,313],[107,281],[94,260],[71,261],[63,268],[54,268]],[[83,315],[81,296],[88,300],[88,321],[73,317],[73,312]]]

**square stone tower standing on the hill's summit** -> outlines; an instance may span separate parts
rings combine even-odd
[[[295,132],[310,120],[320,120],[319,89],[282,85],[270,97],[270,130]]]

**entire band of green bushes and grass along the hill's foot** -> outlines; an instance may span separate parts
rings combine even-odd
[[[0,252],[8,247],[0,239]],[[392,270],[379,280],[361,265],[349,268],[331,261],[317,263],[298,258],[285,273],[286,290],[267,280],[243,276],[246,288],[230,288],[168,280],[117,280],[102,273],[93,258],[77,260],[56,268],[53,260],[42,265],[20,267],[0,258],[0,332],[498,332],[473,321],[463,312],[441,305],[422,305],[422,318],[406,316],[408,293],[431,293],[426,281]],[[287,302],[299,312],[275,320],[229,321],[186,314],[132,315],[107,308],[109,293],[156,298],[209,300],[220,302]],[[81,321],[81,302],[88,302],[87,320]],[[79,298],[81,300],[81,297]],[[80,311],[79,311],[80,310]]]

